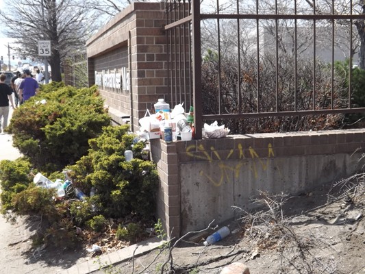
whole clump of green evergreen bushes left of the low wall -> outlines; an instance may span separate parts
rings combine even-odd
[[[118,220],[116,228],[124,217],[136,220],[127,232],[136,240],[143,232],[138,221],[153,219],[159,179],[155,164],[142,159],[146,142],[129,132],[129,125],[110,125],[95,87],[42,86],[15,110],[9,132],[26,156],[0,162],[2,213],[41,216],[35,246],[73,248],[80,240],[75,227],[100,232],[106,220]],[[131,162],[125,161],[127,149],[134,154]],[[73,184],[61,199],[55,189],[33,184],[38,172],[54,182],[64,178],[64,169],[71,170]],[[83,201],[73,193],[80,188],[88,196],[92,187],[95,195]]]

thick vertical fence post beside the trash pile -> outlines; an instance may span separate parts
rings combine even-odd
[[[194,105],[194,127],[195,138],[201,139],[201,129],[203,128],[203,111],[201,108],[201,17],[200,17],[200,2],[192,1],[192,52],[193,62],[193,105]]]

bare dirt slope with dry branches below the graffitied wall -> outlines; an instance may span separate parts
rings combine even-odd
[[[161,273],[164,266],[164,273],[214,274],[232,262],[243,262],[251,274],[365,273],[364,195],[357,191],[355,201],[347,190],[320,188],[290,197],[282,207],[280,225],[275,221],[281,216],[266,219],[268,223],[255,220],[257,225],[251,226],[231,221],[225,225],[232,233],[214,245],[205,247],[203,238],[184,241],[172,250],[155,250],[118,264],[114,271]]]

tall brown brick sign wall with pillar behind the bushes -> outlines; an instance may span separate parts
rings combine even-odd
[[[114,121],[130,116],[134,131],[151,103],[167,92],[164,16],[164,3],[132,3],[86,43],[89,85],[95,84],[95,71],[124,65],[129,69],[128,92],[110,88],[100,92]]]

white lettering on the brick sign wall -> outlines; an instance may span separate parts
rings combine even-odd
[[[129,70],[121,68],[110,73],[95,71],[95,84],[100,88],[116,88],[122,90],[129,90]]]

